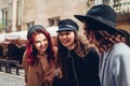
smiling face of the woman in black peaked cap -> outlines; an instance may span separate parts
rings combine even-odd
[[[61,31],[58,32],[58,39],[63,46],[69,48],[74,45],[75,33],[74,31]]]

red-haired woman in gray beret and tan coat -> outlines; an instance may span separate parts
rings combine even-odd
[[[57,49],[52,46],[49,32],[41,25],[35,25],[28,29],[27,40],[23,57],[27,86],[52,86]]]

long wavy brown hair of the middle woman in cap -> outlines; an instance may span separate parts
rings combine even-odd
[[[88,54],[88,45],[82,43],[82,40],[79,39],[79,35],[77,33],[77,31],[74,31],[75,33],[75,52],[76,54],[83,58],[87,54]],[[63,76],[65,77],[65,80],[67,80],[67,61],[69,58],[69,52],[67,49],[67,47],[63,46],[63,44],[60,41],[60,35],[57,34],[57,48],[58,48],[58,53],[57,53],[57,64],[62,67],[62,71],[63,71]]]

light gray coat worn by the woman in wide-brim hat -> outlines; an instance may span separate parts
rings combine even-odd
[[[102,86],[130,86],[130,47],[117,43],[104,53],[100,70]]]

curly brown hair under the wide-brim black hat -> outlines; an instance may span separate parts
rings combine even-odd
[[[108,51],[115,43],[125,42],[125,38],[121,34],[110,30],[106,31],[104,28],[106,27],[92,26],[89,24],[84,27],[87,34],[90,34],[91,30],[93,31],[95,39],[100,43],[98,46],[100,53]],[[91,39],[88,35],[87,38]]]

